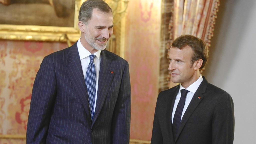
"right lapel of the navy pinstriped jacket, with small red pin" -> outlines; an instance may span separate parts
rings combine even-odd
[[[109,54],[109,52],[106,50],[101,51],[101,63],[100,63],[97,102],[96,102],[96,109],[94,112],[92,126],[100,114],[100,111],[103,107],[109,87],[115,75],[115,67],[113,64],[111,64],[111,62],[112,62],[112,56]]]

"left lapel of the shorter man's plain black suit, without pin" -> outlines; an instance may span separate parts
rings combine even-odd
[[[176,96],[178,95],[179,92],[179,85],[176,86],[175,92],[174,92],[174,96],[173,97],[169,97],[168,101],[171,101],[171,105],[167,107],[167,122],[169,122],[169,136],[171,138],[171,143],[174,143],[174,137],[173,137],[173,127],[172,127],[172,113],[173,113],[173,107],[174,107],[174,103],[175,103],[175,99]]]

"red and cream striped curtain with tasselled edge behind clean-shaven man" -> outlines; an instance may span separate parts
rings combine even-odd
[[[210,47],[220,0],[174,0],[170,43],[183,34],[203,39]],[[169,87],[176,86],[170,79]]]

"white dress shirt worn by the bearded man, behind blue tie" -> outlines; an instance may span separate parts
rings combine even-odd
[[[85,81],[87,68],[88,68],[89,63],[91,61],[89,56],[92,55],[92,54],[86,48],[83,47],[83,45],[81,44],[80,39],[77,42],[77,48],[78,48],[78,53],[79,53],[79,56],[80,56],[80,59],[81,59],[81,64],[82,64],[82,69],[83,69],[83,76],[84,76],[84,81]],[[98,84],[99,84],[100,53],[101,53],[101,50],[98,50],[98,52],[93,54],[93,55],[96,55],[96,57],[94,58],[94,65],[96,67],[96,72],[97,72],[97,83],[96,83],[96,95],[95,95],[95,103],[94,103],[94,112],[95,112],[95,108],[96,108]]]

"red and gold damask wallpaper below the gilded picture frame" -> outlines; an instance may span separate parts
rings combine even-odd
[[[0,41],[0,135],[25,137],[33,83],[43,58],[62,43]],[[1,143],[25,140],[0,139]]]

